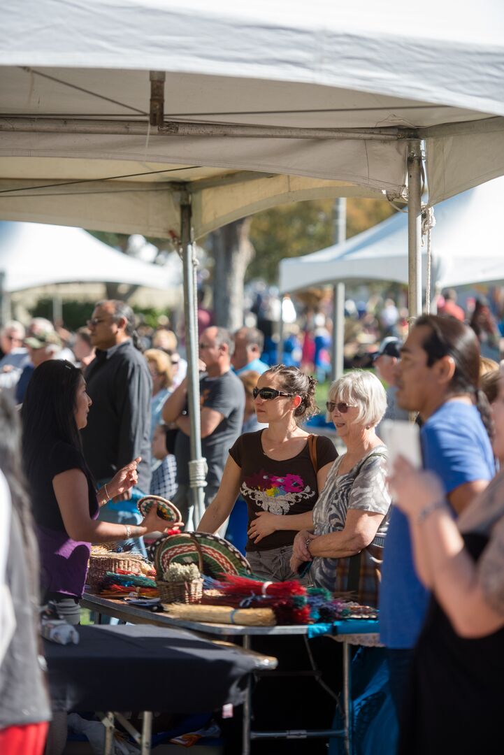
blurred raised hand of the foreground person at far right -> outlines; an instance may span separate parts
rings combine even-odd
[[[440,479],[432,472],[417,470],[404,456],[395,461],[389,489],[394,503],[409,516],[417,516],[426,506],[445,498]]]

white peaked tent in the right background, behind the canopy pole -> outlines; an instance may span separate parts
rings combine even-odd
[[[504,280],[504,239],[499,217],[504,178],[481,184],[435,207],[431,282],[446,286]],[[422,248],[427,279],[427,244]],[[397,213],[352,239],[303,257],[281,260],[280,290],[300,291],[337,281],[385,280],[407,284],[407,215]]]

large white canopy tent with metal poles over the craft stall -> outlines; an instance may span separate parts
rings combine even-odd
[[[402,196],[414,316],[422,143],[431,203],[504,174],[499,0],[25,0],[0,66],[0,218],[180,238],[194,408],[191,228]]]

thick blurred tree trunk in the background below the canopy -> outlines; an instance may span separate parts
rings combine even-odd
[[[244,279],[254,258],[248,237],[251,218],[235,220],[211,234],[214,266],[214,322],[235,331],[243,325]]]

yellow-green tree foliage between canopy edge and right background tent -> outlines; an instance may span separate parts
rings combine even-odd
[[[333,199],[317,199],[281,205],[254,215],[250,241],[256,256],[247,280],[278,280],[278,263],[284,257],[300,257],[334,243]],[[346,237],[381,223],[394,213],[389,202],[355,197],[346,202]]]

